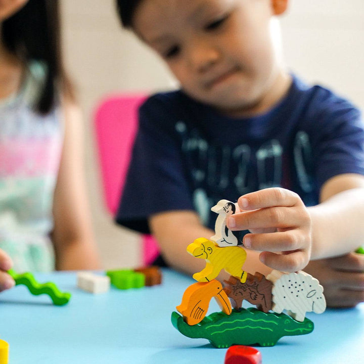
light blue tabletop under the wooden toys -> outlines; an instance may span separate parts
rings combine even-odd
[[[170,315],[192,278],[163,270],[160,286],[94,295],[76,287],[75,272],[36,274],[72,293],[65,306],[25,286],[0,294],[0,338],[10,345],[10,364],[223,364],[226,349],[190,339]],[[218,311],[211,300],[209,312]],[[314,331],[257,347],[263,364],[364,363],[364,304],[352,309],[307,313]]]

